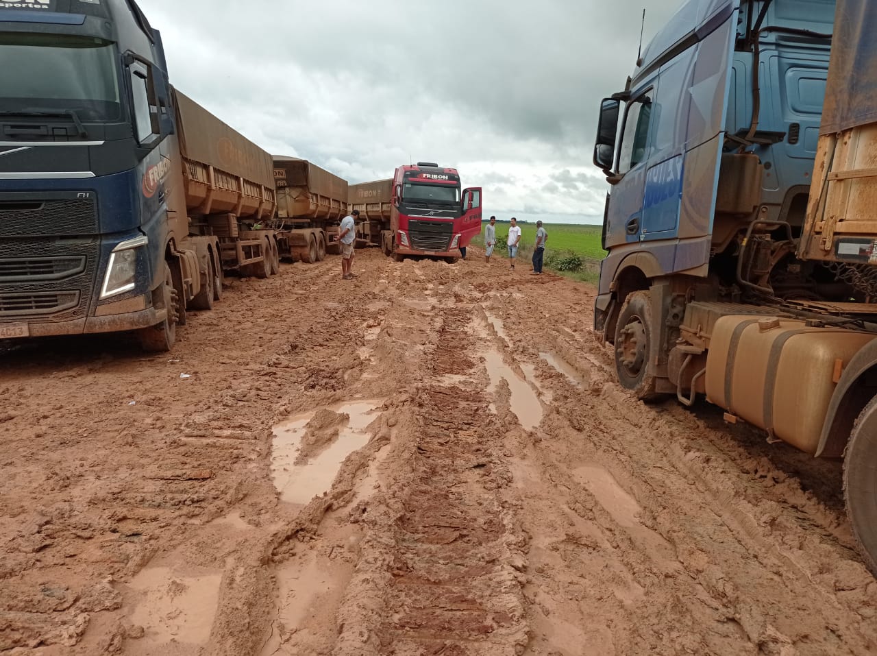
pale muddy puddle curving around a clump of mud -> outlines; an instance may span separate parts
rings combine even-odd
[[[327,492],[332,481],[347,456],[368,444],[371,435],[366,431],[368,424],[377,417],[375,410],[382,401],[370,400],[355,403],[340,403],[330,408],[337,415],[348,415],[348,419],[336,417],[333,425],[324,427],[310,424],[321,410],[313,410],[303,415],[290,417],[288,421],[277,424],[271,458],[271,474],[275,488],[280,492],[281,501],[286,503],[309,503],[314,496]],[[331,417],[330,417],[331,418]],[[338,431],[338,436],[334,436]],[[301,461],[305,448],[303,439],[309,436],[313,444],[320,446],[320,440],[331,443],[320,453]],[[309,453],[310,453],[309,448]],[[296,460],[299,460],[296,462]]]

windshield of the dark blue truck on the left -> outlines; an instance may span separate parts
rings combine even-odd
[[[73,110],[83,120],[117,120],[114,51],[103,39],[0,32],[0,105],[10,114]]]

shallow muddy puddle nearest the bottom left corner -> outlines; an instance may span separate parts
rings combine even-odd
[[[221,579],[212,572],[179,576],[169,567],[147,567],[131,582],[139,599],[132,624],[146,630],[147,644],[203,645],[210,638]]]

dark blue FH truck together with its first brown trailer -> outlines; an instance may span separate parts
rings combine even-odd
[[[0,3],[0,60],[0,339],[168,350],[224,270],[275,271],[270,156],[173,89],[135,2]]]

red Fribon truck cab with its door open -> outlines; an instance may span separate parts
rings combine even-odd
[[[398,257],[456,259],[481,232],[481,188],[460,189],[457,170],[438,164],[396,168],[390,230]]]

